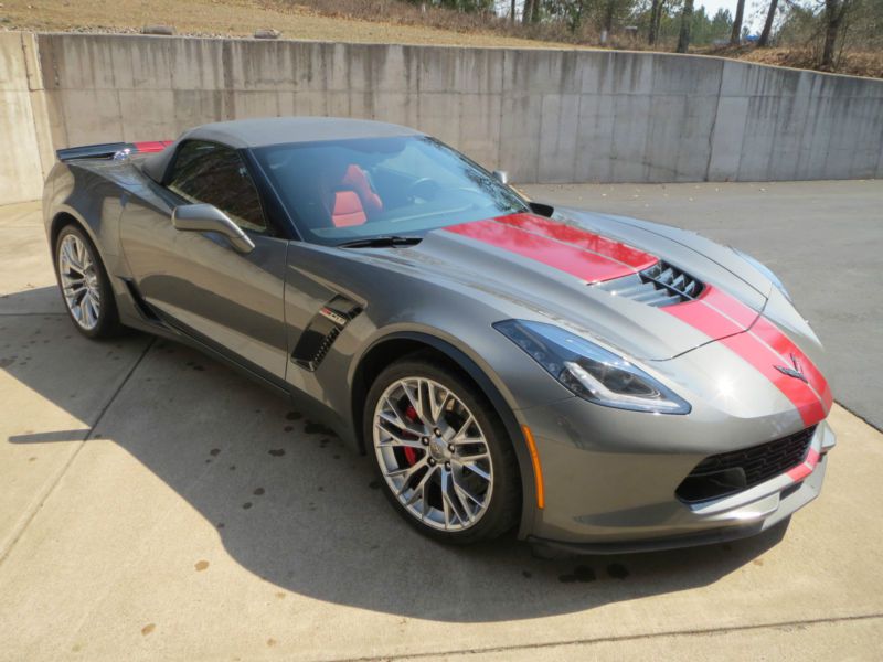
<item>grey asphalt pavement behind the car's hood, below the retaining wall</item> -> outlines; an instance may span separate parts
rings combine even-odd
[[[838,402],[883,429],[883,181],[525,190],[692,229],[763,261],[825,343]]]

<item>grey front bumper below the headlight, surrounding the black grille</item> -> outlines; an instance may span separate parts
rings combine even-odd
[[[804,463],[736,494],[688,504],[674,490],[699,461],[769,440],[759,430],[781,431],[781,421],[730,420],[705,440],[701,435],[710,429],[702,431],[699,425],[696,434],[691,427],[696,421],[685,417],[624,417],[600,407],[593,407],[596,419],[583,428],[574,425],[574,413],[584,408],[585,403],[565,401],[525,419],[538,441],[546,485],[545,508],[535,511],[528,538],[574,553],[667,549],[762,533],[818,496],[827,452],[836,444],[822,420]],[[597,416],[610,420],[599,421]],[[634,421],[638,429],[629,426]],[[594,436],[584,431],[589,429]],[[666,442],[669,436],[672,440]]]

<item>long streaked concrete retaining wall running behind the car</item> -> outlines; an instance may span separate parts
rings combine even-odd
[[[883,177],[883,81],[608,51],[36,40],[56,148],[336,115],[416,127],[519,182]]]

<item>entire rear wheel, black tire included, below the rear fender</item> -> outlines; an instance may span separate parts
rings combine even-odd
[[[98,252],[86,234],[67,225],[55,242],[55,268],[67,313],[87,338],[119,332],[114,292]]]

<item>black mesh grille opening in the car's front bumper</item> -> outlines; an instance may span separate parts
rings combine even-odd
[[[775,441],[708,457],[681,482],[675,494],[681,501],[695,503],[760,484],[802,462],[815,431],[813,426]]]

